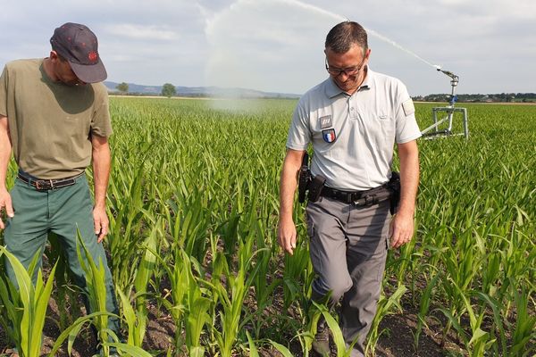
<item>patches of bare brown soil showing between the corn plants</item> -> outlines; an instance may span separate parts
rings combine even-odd
[[[207,254],[205,257],[206,266],[210,266],[211,256]],[[282,264],[282,260],[281,260]],[[48,266],[46,260],[44,263],[44,275],[48,275]],[[281,274],[282,270],[278,270],[276,275]],[[282,278],[282,277],[280,277]],[[389,279],[389,286],[396,283],[396,280]],[[385,288],[385,294],[389,295],[389,286]],[[160,288],[167,290],[171,288],[169,282],[161,281]],[[266,311],[267,314],[281,314],[282,310],[282,289],[276,288],[273,295],[275,296],[272,306]],[[54,299],[55,297],[55,299]],[[46,325],[44,328],[43,336],[43,348],[41,350],[42,356],[47,356],[52,350],[54,342],[61,334],[59,328],[60,312],[56,303],[57,296],[54,296],[48,304]],[[435,316],[426,320],[427,327],[423,328],[419,339],[418,348],[415,349],[414,334],[415,327],[417,326],[417,313],[418,307],[412,303],[413,299],[411,293],[408,291],[406,295],[402,297],[401,305],[404,309],[402,313],[394,313],[384,317],[381,320],[380,331],[382,331],[379,341],[375,348],[375,355],[378,357],[410,357],[410,356],[423,356],[423,357],[459,357],[465,356],[463,348],[456,341],[456,336],[446,336],[444,341],[441,341],[443,336],[442,328],[445,326],[445,320],[441,316]],[[256,309],[255,298],[253,296],[247,296],[245,304],[251,307],[251,310]],[[70,309],[71,320],[76,320],[77,317],[85,313],[83,303],[81,300],[76,302],[75,308],[71,308],[69,302],[66,303],[66,308]],[[144,340],[143,348],[151,353],[153,356],[166,356],[169,349],[173,350],[173,337],[175,335],[175,325],[172,317],[163,309],[150,301],[148,303],[148,321],[147,332]],[[74,310],[74,311],[73,311]],[[292,318],[295,311],[288,311],[289,317]],[[293,336],[287,336],[287,340],[291,340]],[[282,345],[284,342],[279,341]],[[8,347],[8,339],[5,331],[0,327],[0,357],[4,356],[2,353],[5,348]],[[291,342],[289,350],[296,357],[302,357],[302,348],[297,342]],[[331,356],[337,355],[335,345],[331,345]],[[91,357],[96,353],[96,336],[90,328],[82,330],[77,336],[72,346],[71,356],[74,357]],[[269,356],[282,356],[277,350],[272,348],[271,345],[264,345],[259,347],[259,353],[264,357]],[[175,353],[175,356],[187,356],[188,353]],[[62,348],[56,356],[68,357],[67,344],[64,343]],[[210,357],[210,353],[206,353],[206,357]],[[240,351],[237,356],[247,356],[246,353]]]

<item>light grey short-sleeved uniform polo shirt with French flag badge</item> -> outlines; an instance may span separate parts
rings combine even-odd
[[[289,129],[287,147],[313,145],[313,175],[341,190],[367,190],[389,181],[395,143],[421,137],[406,86],[367,68],[353,94],[331,78],[301,97]]]

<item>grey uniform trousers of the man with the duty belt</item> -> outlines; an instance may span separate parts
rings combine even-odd
[[[357,338],[352,356],[364,356],[381,293],[389,239],[389,200],[356,207],[328,197],[308,203],[311,262],[317,274],[313,295],[342,297],[340,328],[347,345]]]

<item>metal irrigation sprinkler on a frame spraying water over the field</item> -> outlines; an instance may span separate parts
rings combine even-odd
[[[457,101],[456,86],[458,84],[459,77],[456,76],[456,74],[452,73],[451,71],[441,70],[441,67],[439,65],[434,65],[434,67],[436,68],[437,71],[443,72],[448,77],[450,77],[450,86],[452,86],[452,91],[450,93],[447,106],[431,108],[433,124],[430,127],[421,131],[421,134],[423,134],[423,137],[428,137],[428,138],[448,137],[448,136],[457,136],[457,135],[465,135],[465,138],[469,138],[469,127],[467,125],[467,121],[468,121],[467,109],[455,108],[455,104]],[[445,117],[438,120],[438,112],[445,112],[446,113]],[[463,133],[454,132],[452,122],[454,120],[454,116],[455,116],[454,114],[456,112],[461,112],[463,115],[463,124],[464,124]]]

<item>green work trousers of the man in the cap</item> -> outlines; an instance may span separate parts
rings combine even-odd
[[[55,233],[69,263],[75,284],[88,293],[85,273],[80,266],[77,253],[78,228],[93,261],[98,266],[102,260],[105,265],[106,310],[118,314],[112,274],[106,262],[105,250],[103,245],[96,241],[93,202],[86,176],[80,176],[72,186],[44,191],[38,191],[21,179],[16,179],[11,196],[14,217],[7,220],[4,230],[4,244],[7,250],[27,269],[35,254],[40,252],[38,261],[40,267],[48,233]],[[82,256],[85,254],[82,253]],[[16,284],[13,268],[7,261],[5,268],[8,277]],[[88,312],[92,312],[89,311],[87,300],[84,296],[86,308]],[[118,319],[110,318],[108,327],[119,336]]]

